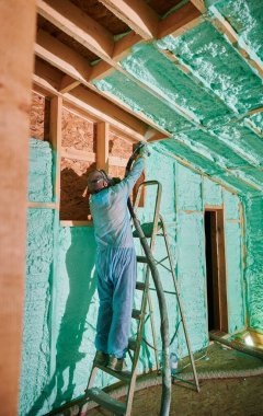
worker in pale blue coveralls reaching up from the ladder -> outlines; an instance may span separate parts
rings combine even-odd
[[[137,273],[127,200],[145,169],[146,154],[142,147],[133,169],[118,184],[99,170],[88,178],[100,298],[94,363],[115,371],[125,367]]]

